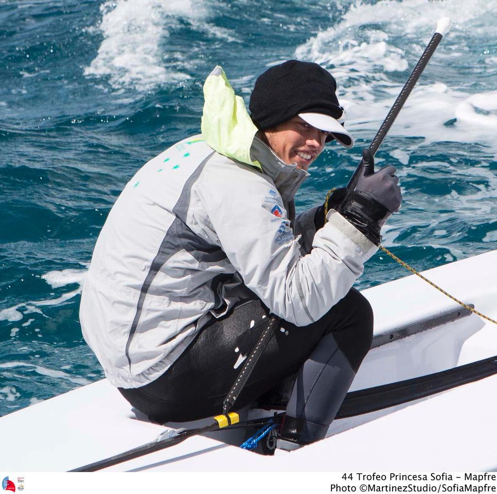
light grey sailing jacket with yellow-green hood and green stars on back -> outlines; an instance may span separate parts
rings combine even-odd
[[[115,386],[154,381],[240,300],[258,297],[297,326],[317,321],[377,249],[333,210],[318,232],[315,208],[295,217],[308,173],[255,137],[222,70],[204,92],[202,135],[136,173],[95,245],[80,320]]]

